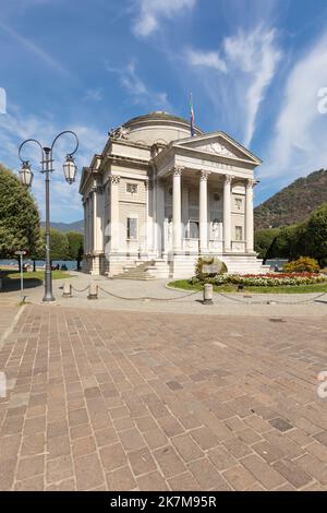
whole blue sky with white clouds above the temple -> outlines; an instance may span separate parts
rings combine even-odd
[[[259,203],[327,167],[327,2],[0,0],[0,162],[17,169],[21,141],[49,144],[72,129],[80,171],[128,119],[189,117],[192,91],[197,126],[226,131],[264,160]],[[82,217],[77,183],[61,172],[70,143],[55,154],[53,220]],[[37,169],[36,151],[26,156]],[[44,211],[39,174],[34,193]]]

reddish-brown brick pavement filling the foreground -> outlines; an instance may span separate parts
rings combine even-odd
[[[27,306],[0,349],[0,489],[326,490],[326,317]]]

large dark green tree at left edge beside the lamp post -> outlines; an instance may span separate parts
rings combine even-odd
[[[29,255],[39,238],[39,212],[34,198],[0,164],[0,258],[12,258],[16,250],[25,250]]]

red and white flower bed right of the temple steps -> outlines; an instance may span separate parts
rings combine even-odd
[[[318,273],[281,273],[281,274],[222,274],[203,281],[194,277],[191,283],[210,283],[213,285],[244,285],[247,287],[283,287],[287,285],[313,285],[326,282]]]

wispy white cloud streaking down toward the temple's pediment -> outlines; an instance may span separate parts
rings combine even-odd
[[[245,146],[252,142],[259,106],[281,58],[276,39],[276,31],[258,26],[251,32],[240,31],[225,38],[221,48],[217,50],[185,51],[191,67],[206,68],[205,80],[209,81],[208,90],[211,91],[213,100],[227,112],[231,109],[238,112],[244,126]],[[210,70],[223,74],[208,74]],[[231,116],[234,116],[233,112]]]

